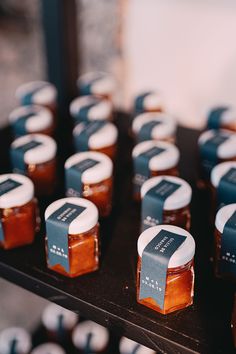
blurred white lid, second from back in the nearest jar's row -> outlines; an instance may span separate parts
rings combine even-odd
[[[174,118],[165,113],[158,112],[142,113],[135,117],[132,124],[134,134],[137,135],[144,124],[152,121],[160,122],[160,124],[152,129],[151,138],[153,140],[166,139],[175,134],[176,122]]]

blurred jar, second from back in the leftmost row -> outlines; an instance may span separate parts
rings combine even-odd
[[[45,107],[37,105],[18,107],[11,112],[9,120],[15,137],[31,133],[52,136],[54,133],[52,113]]]

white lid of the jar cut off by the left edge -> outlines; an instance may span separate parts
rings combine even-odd
[[[1,209],[21,206],[33,199],[34,185],[28,177],[16,173],[8,173],[0,175],[0,184],[9,179],[20,183],[20,185],[0,196]]]

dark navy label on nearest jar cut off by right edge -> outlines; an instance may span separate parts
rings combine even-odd
[[[236,276],[236,211],[223,229],[219,270]]]

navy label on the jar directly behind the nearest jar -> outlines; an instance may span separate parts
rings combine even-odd
[[[165,200],[181,187],[163,179],[145,194],[142,200],[142,231],[163,223]]]

